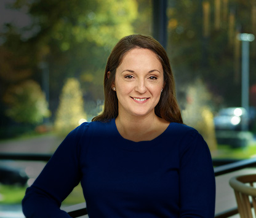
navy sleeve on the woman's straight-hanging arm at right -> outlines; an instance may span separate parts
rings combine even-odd
[[[215,176],[209,148],[197,131],[181,147],[180,217],[214,217]]]

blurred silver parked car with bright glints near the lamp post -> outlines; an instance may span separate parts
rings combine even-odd
[[[242,122],[249,125],[249,114],[243,107],[226,107],[214,117],[215,130],[242,130]]]

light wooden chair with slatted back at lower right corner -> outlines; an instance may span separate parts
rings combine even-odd
[[[252,206],[256,216],[256,187],[254,187],[254,182],[256,182],[256,174],[235,176],[230,179],[230,186],[234,189],[241,218],[253,218]]]

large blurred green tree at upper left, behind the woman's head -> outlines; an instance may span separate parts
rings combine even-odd
[[[30,61],[24,68],[30,69],[30,78],[37,81],[41,81],[39,63],[47,63],[53,114],[62,89],[60,84],[68,77],[81,81],[86,99],[103,99],[106,59],[121,37],[134,33],[136,0],[16,0],[9,8],[26,11],[30,23],[22,28],[6,24],[2,46],[11,52],[23,52]]]

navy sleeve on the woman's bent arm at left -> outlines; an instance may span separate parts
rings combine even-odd
[[[60,210],[60,205],[81,180],[79,138],[82,128],[78,127],[66,136],[36,181],[26,190],[22,208],[27,218],[70,217]]]

